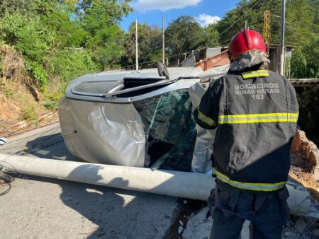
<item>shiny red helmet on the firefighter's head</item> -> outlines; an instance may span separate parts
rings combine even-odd
[[[266,53],[262,36],[254,30],[244,29],[237,33],[230,41],[229,51],[231,59],[235,60],[240,54],[257,49]]]

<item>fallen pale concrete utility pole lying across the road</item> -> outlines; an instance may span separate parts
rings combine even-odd
[[[210,175],[149,168],[133,168],[116,165],[60,161],[25,156],[0,154],[0,161],[11,165],[20,173],[53,177],[74,182],[116,187],[125,190],[151,192],[174,197],[206,201],[215,187]],[[310,195],[304,187],[287,184],[291,214],[306,216],[310,208]]]

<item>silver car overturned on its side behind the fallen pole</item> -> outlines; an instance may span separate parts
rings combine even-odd
[[[92,163],[209,170],[213,133],[198,129],[192,112],[203,86],[228,66],[165,71],[108,71],[69,83],[59,109],[69,151]]]

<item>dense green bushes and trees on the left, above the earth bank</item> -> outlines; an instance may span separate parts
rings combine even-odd
[[[1,1],[0,42],[21,52],[28,83],[55,98],[45,92],[52,78],[64,85],[82,74],[106,69],[123,53],[119,22],[132,11],[129,2]]]

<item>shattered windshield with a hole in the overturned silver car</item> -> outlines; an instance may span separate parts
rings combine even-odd
[[[145,167],[190,171],[196,122],[189,93],[171,91],[133,104],[145,130]]]

